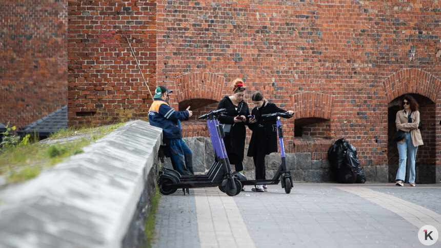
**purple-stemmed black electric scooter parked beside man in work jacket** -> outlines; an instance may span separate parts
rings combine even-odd
[[[159,191],[164,195],[173,194],[177,189],[182,189],[184,194],[189,192],[189,188],[222,187],[229,196],[235,196],[242,190],[239,179],[233,177],[230,161],[225,150],[225,137],[222,126],[219,125],[219,115],[226,112],[226,109],[210,111],[198,119],[207,119],[208,131],[211,143],[213,144],[215,161],[212,163],[208,172],[204,175],[181,175],[177,171],[163,168],[159,171],[158,185]]]

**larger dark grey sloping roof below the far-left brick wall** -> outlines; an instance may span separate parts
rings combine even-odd
[[[39,136],[48,136],[58,130],[67,128],[67,105],[61,109],[46,115],[45,117],[21,128],[17,133],[38,133]]]

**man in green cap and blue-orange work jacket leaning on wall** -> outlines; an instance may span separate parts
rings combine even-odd
[[[155,90],[152,106],[149,109],[150,125],[163,129],[163,142],[166,156],[170,157],[173,169],[181,175],[193,175],[193,153],[182,139],[181,121],[191,117],[190,106],[185,111],[175,111],[168,104],[170,93],[164,86]]]

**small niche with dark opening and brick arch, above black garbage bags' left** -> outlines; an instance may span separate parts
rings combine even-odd
[[[331,119],[333,101],[332,95],[318,92],[301,92],[292,95],[294,136],[303,136],[304,128],[314,125],[316,129],[308,130],[308,136],[328,136],[327,126],[324,123]]]

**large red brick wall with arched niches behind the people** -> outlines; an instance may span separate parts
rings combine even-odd
[[[196,118],[243,78],[248,102],[261,91],[296,110],[284,122],[288,151],[297,123],[305,136],[345,137],[363,166],[386,166],[389,102],[420,94],[435,102],[428,121],[441,119],[440,10],[416,0],[70,1],[69,124],[145,116],[151,99],[127,35],[150,90],[174,91],[172,107],[192,106]],[[441,127],[432,129],[427,151],[441,165]]]

